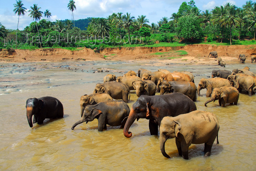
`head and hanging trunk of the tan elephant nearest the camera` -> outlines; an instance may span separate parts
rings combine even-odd
[[[161,121],[161,126],[159,128],[159,145],[163,156],[170,158],[165,152],[165,142],[168,138],[178,137],[180,133],[181,125],[177,121],[173,121],[170,117],[164,117]]]

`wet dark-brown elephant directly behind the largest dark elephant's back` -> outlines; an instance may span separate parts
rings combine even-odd
[[[197,88],[195,83],[190,81],[166,81],[163,80],[160,95],[165,93],[180,92],[188,96],[193,102],[196,102]]]

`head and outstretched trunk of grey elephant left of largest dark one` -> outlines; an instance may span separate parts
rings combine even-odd
[[[102,114],[102,111],[93,107],[93,106],[86,106],[83,112],[83,116],[82,118],[77,121],[73,126],[72,126],[72,130],[75,128],[76,125],[83,123],[83,122],[90,122],[93,121],[95,118],[98,118],[99,115]]]

